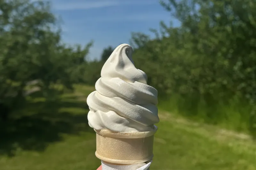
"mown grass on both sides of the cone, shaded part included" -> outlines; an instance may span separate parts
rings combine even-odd
[[[40,92],[0,125],[0,170],[96,170],[88,126],[93,87],[47,98]],[[256,143],[245,135],[159,111],[151,170],[256,170]]]

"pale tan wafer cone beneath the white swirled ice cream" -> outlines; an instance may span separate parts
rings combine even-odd
[[[94,129],[95,130],[95,129]],[[153,131],[122,133],[108,130],[95,130],[97,158],[110,164],[135,164],[153,158]]]

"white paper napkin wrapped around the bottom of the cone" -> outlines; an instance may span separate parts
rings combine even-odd
[[[102,170],[149,170],[152,160],[146,163],[130,164],[130,165],[111,165],[101,161]]]

